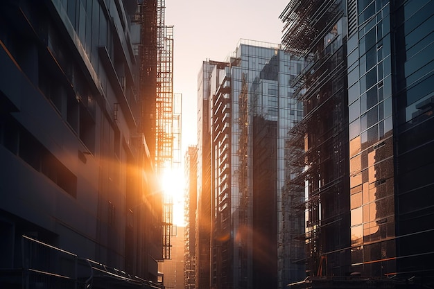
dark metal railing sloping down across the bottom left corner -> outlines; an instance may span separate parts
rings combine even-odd
[[[161,284],[85,259],[28,236],[21,239],[21,267],[0,269],[0,288],[160,289]]]

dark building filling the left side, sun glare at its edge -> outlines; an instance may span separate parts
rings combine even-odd
[[[139,85],[157,6],[1,1],[0,287],[157,282],[162,195],[141,110],[155,89]]]

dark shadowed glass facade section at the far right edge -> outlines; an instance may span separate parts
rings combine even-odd
[[[397,276],[434,285],[434,1],[394,1]]]

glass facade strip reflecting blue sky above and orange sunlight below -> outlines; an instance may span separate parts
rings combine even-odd
[[[351,270],[383,276],[396,266],[390,4],[357,5],[347,42]]]

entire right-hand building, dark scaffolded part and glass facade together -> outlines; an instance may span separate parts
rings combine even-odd
[[[374,288],[433,286],[433,11],[290,1],[281,15],[285,49],[306,60],[290,149],[300,170],[288,180],[304,195],[306,286],[361,286],[339,280],[350,274]]]

